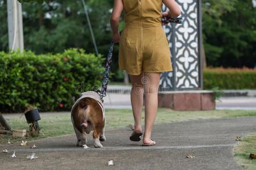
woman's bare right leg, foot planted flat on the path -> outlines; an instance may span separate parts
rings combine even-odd
[[[145,93],[145,133],[143,143],[152,143],[151,131],[154,120],[157,116],[158,107],[158,87],[160,81],[160,73],[144,73],[144,93]]]

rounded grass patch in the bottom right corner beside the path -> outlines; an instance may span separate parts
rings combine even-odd
[[[256,134],[250,134],[234,147],[234,158],[244,169],[256,169],[256,159],[250,159],[250,154],[256,154]]]

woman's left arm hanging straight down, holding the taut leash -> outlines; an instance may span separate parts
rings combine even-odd
[[[119,19],[121,16],[121,12],[123,11],[123,2],[122,0],[115,0],[114,2],[114,8],[112,11],[110,24],[112,28],[112,38],[114,42],[119,42],[120,40],[120,34],[118,32],[119,27]]]

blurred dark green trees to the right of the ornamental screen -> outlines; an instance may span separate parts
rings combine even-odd
[[[203,0],[203,37],[207,65],[256,65],[256,8],[252,1]]]

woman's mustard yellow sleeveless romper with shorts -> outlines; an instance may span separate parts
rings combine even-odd
[[[123,0],[123,6],[119,69],[130,75],[172,71],[169,41],[161,24],[162,0]]]

